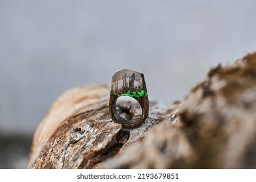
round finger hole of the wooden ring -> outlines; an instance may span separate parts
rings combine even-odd
[[[140,103],[129,96],[121,96],[116,100],[116,110],[125,120],[138,120],[142,116]]]

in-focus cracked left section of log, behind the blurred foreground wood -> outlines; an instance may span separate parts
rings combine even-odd
[[[148,128],[159,123],[159,116],[167,110],[154,101],[150,117],[140,128],[123,130],[121,124],[113,122],[108,114],[109,91],[108,86],[88,85],[80,87],[79,91],[74,88],[65,92],[50,109],[50,116],[55,116],[56,122],[47,119],[51,118],[48,113],[35,133],[28,167],[97,168],[101,162],[121,153],[127,145],[142,140]],[[58,113],[66,98],[75,98],[75,102],[70,105],[64,102],[66,107],[61,113],[72,114],[63,118]],[[126,104],[120,107],[127,107]],[[137,111],[138,107],[130,110],[134,115],[138,114]],[[55,131],[48,135],[41,133],[48,127],[55,127]]]

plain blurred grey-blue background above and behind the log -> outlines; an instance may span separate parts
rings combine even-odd
[[[151,98],[183,99],[209,68],[256,50],[256,1],[0,0],[0,168],[25,168],[61,93],[144,73]],[[159,92],[159,90],[161,90]]]

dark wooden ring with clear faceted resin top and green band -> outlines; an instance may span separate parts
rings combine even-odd
[[[142,115],[139,119],[125,120],[118,114],[116,101],[121,96],[129,96],[138,101],[142,109]],[[123,127],[138,127],[148,118],[149,101],[143,73],[127,69],[114,73],[112,76],[108,110],[112,120],[116,123],[121,123]]]

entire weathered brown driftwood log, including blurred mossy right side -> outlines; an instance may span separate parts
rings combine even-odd
[[[212,68],[181,103],[151,100],[135,129],[111,120],[109,94],[86,85],[57,99],[35,132],[28,168],[256,168],[256,53]],[[119,110],[138,115],[127,103]]]

